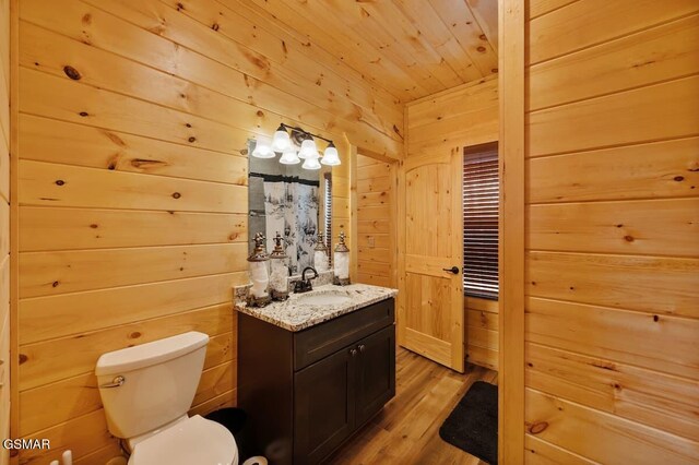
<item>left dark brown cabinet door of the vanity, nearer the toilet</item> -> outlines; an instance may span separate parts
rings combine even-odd
[[[294,374],[295,463],[320,462],[354,430],[356,361],[353,345]]]

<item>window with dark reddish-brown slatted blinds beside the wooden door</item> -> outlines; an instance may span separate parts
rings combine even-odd
[[[498,298],[498,144],[464,148],[463,289]]]

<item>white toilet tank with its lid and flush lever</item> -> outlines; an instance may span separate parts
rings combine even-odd
[[[99,357],[95,374],[109,432],[133,438],[186,415],[208,343],[206,334],[192,331]],[[123,377],[121,385],[106,386],[118,377]]]

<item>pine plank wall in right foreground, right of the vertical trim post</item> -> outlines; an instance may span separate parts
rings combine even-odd
[[[699,3],[530,1],[526,463],[699,462]]]

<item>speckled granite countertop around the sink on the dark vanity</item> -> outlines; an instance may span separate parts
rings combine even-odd
[[[298,303],[304,296],[325,293],[346,294],[351,300],[336,305]],[[351,313],[381,300],[395,297],[396,289],[370,286],[368,284],[351,284],[348,286],[324,285],[304,294],[291,294],[285,301],[276,301],[266,307],[237,307],[241,313],[259,318],[288,331],[297,332],[315,326],[333,318]]]

